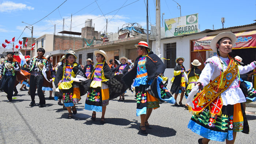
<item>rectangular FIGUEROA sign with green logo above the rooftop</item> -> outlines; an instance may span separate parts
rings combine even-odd
[[[198,31],[198,13],[165,19],[165,36],[179,36],[196,33]]]

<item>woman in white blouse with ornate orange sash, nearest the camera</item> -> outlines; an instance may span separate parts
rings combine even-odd
[[[246,99],[239,87],[238,74],[248,73],[256,62],[240,66],[230,56],[236,35],[222,32],[211,41],[211,49],[217,55],[208,58],[197,85],[189,93],[187,103],[194,112],[188,128],[203,136],[198,142],[210,140],[234,143],[236,132],[249,133],[249,125],[242,102]],[[198,89],[202,89],[198,92]],[[196,93],[195,98],[193,94]]]

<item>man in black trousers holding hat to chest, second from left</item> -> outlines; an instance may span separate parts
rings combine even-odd
[[[44,57],[45,50],[44,48],[37,49],[37,57],[33,58],[30,61],[30,64],[27,65],[28,69],[30,69],[30,78],[29,78],[29,90],[30,90],[30,97],[31,102],[29,106],[33,106],[35,104],[35,90],[37,87],[37,94],[39,96],[39,108],[44,107],[45,105],[45,96],[42,91],[42,86],[44,84],[44,76],[42,75],[42,68],[45,66],[46,71],[49,70],[49,61]],[[37,67],[35,62],[40,62],[42,65]]]

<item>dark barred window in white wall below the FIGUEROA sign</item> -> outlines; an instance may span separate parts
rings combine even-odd
[[[166,68],[174,68],[176,66],[176,43],[166,43],[165,47],[165,58],[170,60],[165,60]]]

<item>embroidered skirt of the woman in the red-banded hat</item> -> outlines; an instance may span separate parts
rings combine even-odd
[[[137,96],[137,110],[136,116],[140,114],[146,114],[147,108],[159,108],[159,99],[151,96],[146,90],[146,85],[140,85],[135,87]]]

